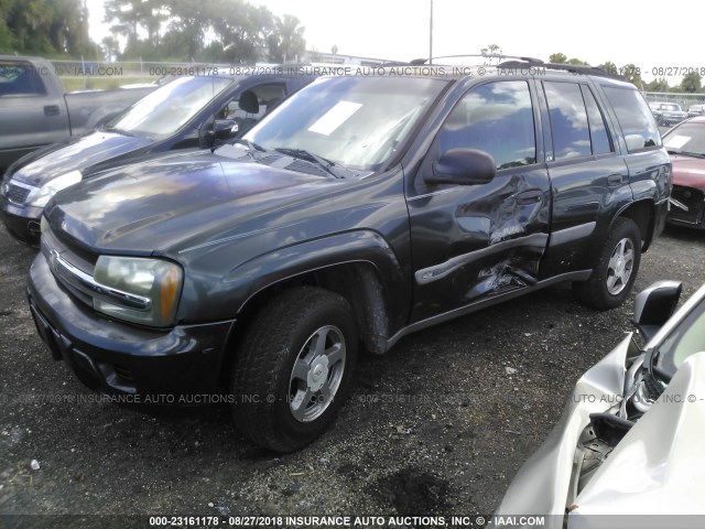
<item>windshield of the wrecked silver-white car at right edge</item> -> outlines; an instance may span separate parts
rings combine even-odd
[[[705,301],[655,348],[654,370],[670,380],[685,358],[701,350],[705,350]]]

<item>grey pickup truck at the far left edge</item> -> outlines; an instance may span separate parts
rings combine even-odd
[[[0,55],[0,174],[35,149],[89,132],[156,86],[65,94],[48,61]]]

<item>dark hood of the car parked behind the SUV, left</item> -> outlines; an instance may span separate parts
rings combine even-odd
[[[85,170],[112,158],[137,151],[151,144],[149,138],[96,131],[82,138],[72,138],[22,159],[12,177],[36,187],[75,170]]]

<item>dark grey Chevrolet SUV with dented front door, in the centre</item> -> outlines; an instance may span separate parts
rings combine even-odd
[[[671,186],[632,85],[524,62],[351,74],[234,144],[58,193],[29,278],[54,357],[142,401],[226,397],[291,451],[334,420],[358,342],[560,281],[625,301]]]

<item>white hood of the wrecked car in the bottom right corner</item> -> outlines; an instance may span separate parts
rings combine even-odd
[[[568,527],[594,527],[582,522],[586,515],[705,515],[703,395],[705,352],[685,359],[595,473],[575,500]],[[702,518],[692,527],[702,527]]]

